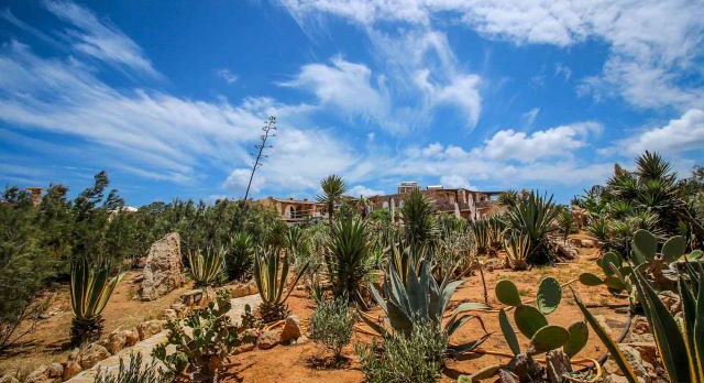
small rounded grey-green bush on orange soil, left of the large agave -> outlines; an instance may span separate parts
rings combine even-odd
[[[310,339],[332,351],[338,361],[352,339],[354,319],[344,297],[320,302],[310,317]]]

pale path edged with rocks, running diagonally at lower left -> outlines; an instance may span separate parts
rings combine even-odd
[[[239,321],[242,314],[244,314],[244,307],[246,305],[250,305],[254,309],[262,302],[262,298],[260,297],[258,294],[252,294],[252,295],[243,296],[240,298],[231,299],[230,302],[232,303],[232,308],[228,311],[228,316],[233,321]],[[92,383],[96,379],[96,373],[98,372],[99,368],[110,372],[113,372],[113,371],[117,372],[118,368],[120,366],[120,358],[124,359],[125,362],[129,362],[131,353],[142,352],[143,363],[148,364],[153,360],[152,350],[157,344],[163,343],[166,340],[167,332],[168,332],[167,330],[164,330],[151,338],[147,338],[134,344],[133,347],[125,348],[120,352],[118,352],[117,354],[98,362],[92,368],[86,371],[82,371],[81,373],[69,379],[66,382]]]

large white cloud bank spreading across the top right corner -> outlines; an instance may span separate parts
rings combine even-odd
[[[601,75],[587,78],[582,92],[618,94],[644,108],[701,107],[701,86],[682,80],[702,75],[704,3],[688,0],[279,0],[305,23],[320,13],[336,14],[366,28],[382,22],[427,30],[442,15],[460,19],[485,37],[516,44],[566,47],[588,40],[609,45]],[[569,72],[561,70],[569,78]],[[650,85],[650,86],[649,86]],[[642,91],[646,90],[646,91]]]

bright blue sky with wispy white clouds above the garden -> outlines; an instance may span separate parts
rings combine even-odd
[[[108,171],[131,205],[399,180],[561,201],[645,150],[704,161],[704,3],[525,0],[0,4],[0,184]]]

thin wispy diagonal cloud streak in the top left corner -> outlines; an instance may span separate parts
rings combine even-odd
[[[74,50],[109,64],[118,64],[157,77],[158,73],[142,48],[108,22],[100,21],[89,10],[70,1],[46,0],[46,9],[70,23],[65,36]]]

